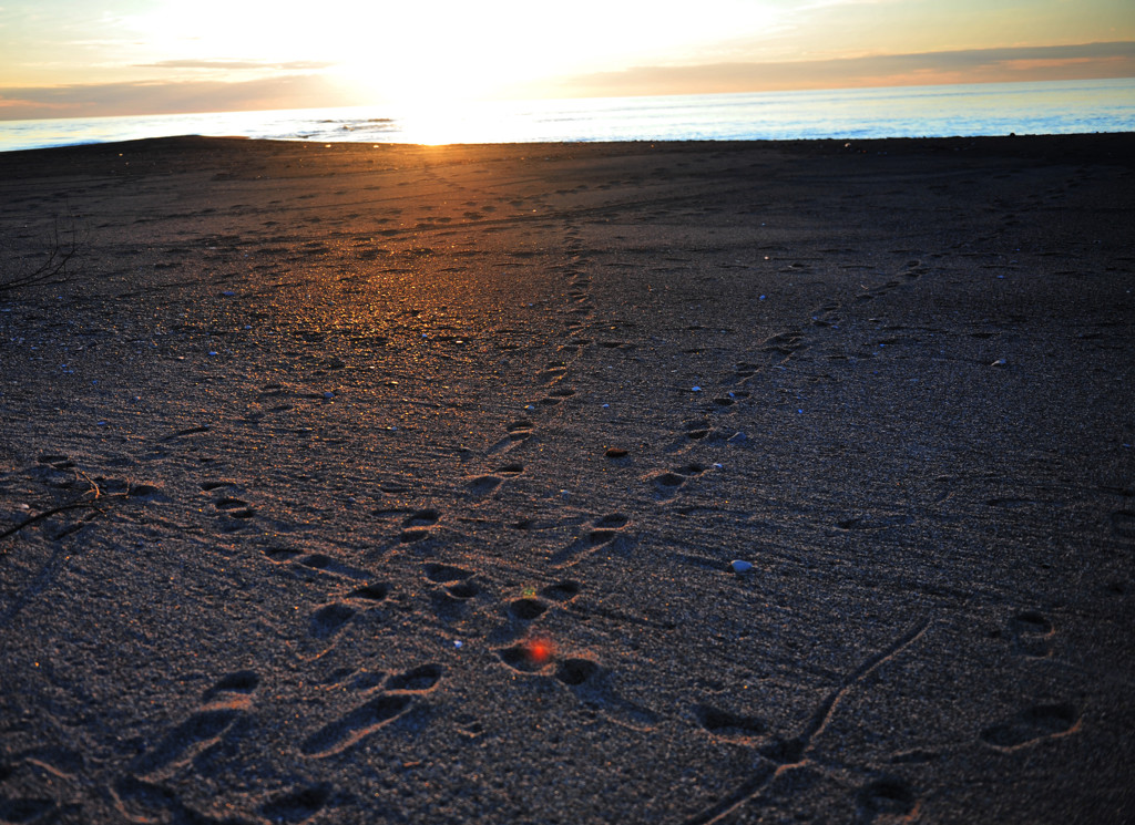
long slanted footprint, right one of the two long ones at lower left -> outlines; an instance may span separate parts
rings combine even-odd
[[[432,663],[390,675],[378,696],[317,730],[303,741],[300,752],[316,759],[342,754],[405,715],[437,687],[442,675],[442,665]]]

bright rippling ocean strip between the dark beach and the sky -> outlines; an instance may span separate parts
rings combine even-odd
[[[1135,131],[1135,78],[0,121],[0,151],[173,135],[359,143],[753,141]]]

